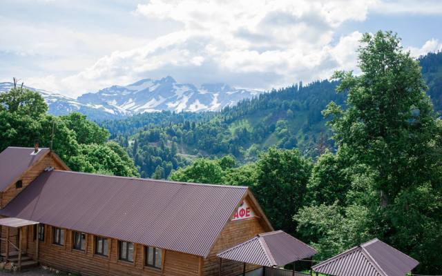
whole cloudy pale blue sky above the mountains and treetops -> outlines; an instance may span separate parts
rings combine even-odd
[[[1,1],[0,81],[76,98],[170,75],[269,90],[355,70],[364,32],[442,50],[442,1]]]

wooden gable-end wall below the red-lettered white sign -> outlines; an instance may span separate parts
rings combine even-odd
[[[222,250],[226,250],[227,248],[231,248],[240,242],[244,242],[247,239],[255,237],[260,233],[265,233],[266,231],[260,224],[260,219],[245,219],[240,221],[231,221],[229,226],[227,226],[224,233],[222,233],[218,242],[215,243],[211,252],[204,259],[203,262],[203,275],[204,276],[218,276],[219,271],[219,261],[218,257],[216,257],[217,253],[220,253]],[[230,261],[227,259],[222,259],[222,275],[241,275],[244,269],[244,263]],[[259,268],[260,266],[254,264],[247,264],[246,271],[253,270]]]

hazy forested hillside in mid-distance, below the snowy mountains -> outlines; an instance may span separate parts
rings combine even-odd
[[[198,157],[231,155],[237,164],[257,160],[257,150],[309,149],[318,140],[325,120],[320,114],[327,103],[343,104],[336,94],[338,81],[302,82],[244,99],[220,112],[153,112],[122,120],[97,122],[111,132],[111,139],[126,148],[142,177],[169,177]],[[329,130],[325,131],[326,140]],[[331,146],[333,141],[329,141]]]

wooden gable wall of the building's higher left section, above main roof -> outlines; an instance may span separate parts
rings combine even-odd
[[[15,188],[15,182],[11,183],[8,188],[6,188],[3,193],[1,193],[1,208],[6,206],[14,197],[16,197],[26,186],[28,186],[35,178],[37,178],[41,172],[44,171],[45,168],[48,168],[50,164],[50,153],[48,153],[38,164],[35,164],[35,166],[32,166],[31,168],[28,168],[26,175],[23,175],[21,177],[22,184],[21,188],[16,189]],[[55,168],[55,170],[66,170],[66,167],[59,164],[57,160],[55,160],[55,157],[52,155],[52,167]]]

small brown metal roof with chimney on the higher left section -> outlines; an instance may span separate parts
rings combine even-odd
[[[49,148],[40,148],[37,155],[32,155],[34,148],[8,147],[3,150],[0,153],[0,192],[48,151]]]

